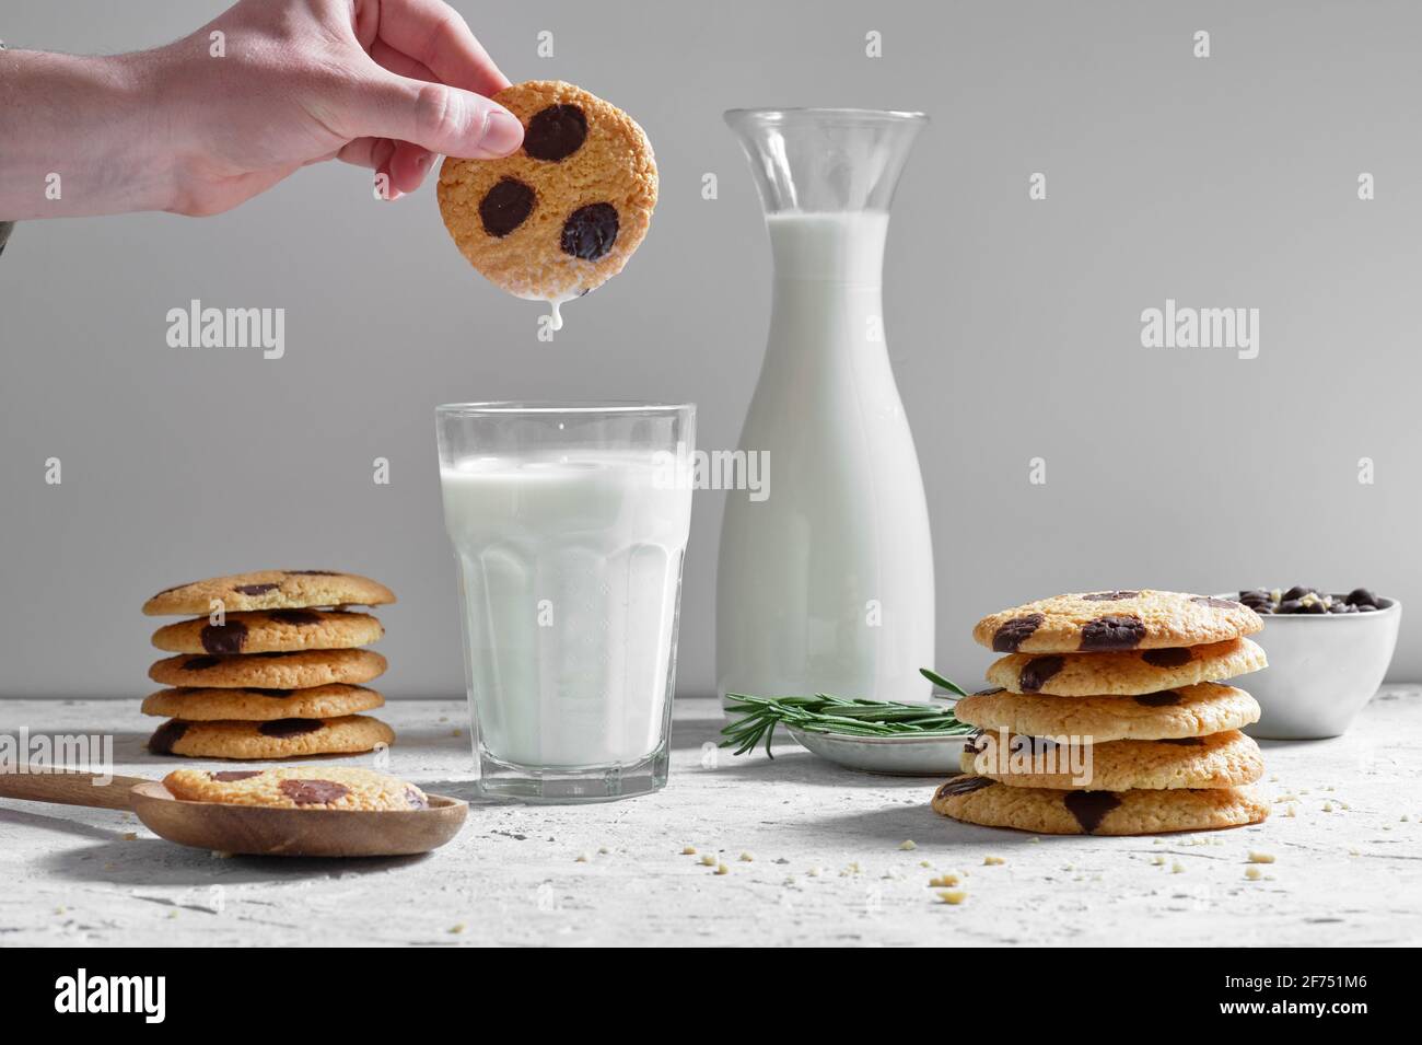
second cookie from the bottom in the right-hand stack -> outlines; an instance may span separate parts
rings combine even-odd
[[[964,746],[961,769],[1014,788],[1078,791],[1234,788],[1264,775],[1258,745],[1237,729],[1172,741],[1081,741],[983,732]]]

